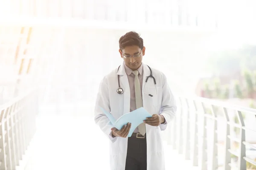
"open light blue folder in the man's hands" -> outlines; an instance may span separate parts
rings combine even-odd
[[[105,111],[103,108],[101,109],[105,113],[105,115],[108,117],[112,125],[116,127],[118,130],[122,129],[122,127],[127,123],[131,123],[131,129],[128,133],[128,137],[131,137],[136,127],[141,123],[143,123],[143,120],[145,120],[147,117],[152,117],[151,114],[148,113],[148,111],[146,111],[142,107],[142,108],[136,109],[135,111],[125,113],[122,116],[120,116],[119,119],[116,120],[111,113]]]

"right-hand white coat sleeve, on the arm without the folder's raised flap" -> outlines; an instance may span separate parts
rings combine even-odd
[[[177,106],[172,91],[170,90],[167,83],[166,76],[163,73],[161,74],[161,78],[163,85],[163,94],[160,114],[163,115],[166,122],[164,124],[160,124],[160,129],[165,130],[168,122],[170,122],[175,117]]]

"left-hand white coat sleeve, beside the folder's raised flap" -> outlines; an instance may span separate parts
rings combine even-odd
[[[104,77],[99,85],[99,91],[96,98],[96,105],[94,110],[94,121],[96,125],[102,130],[103,133],[111,140],[115,142],[117,137],[113,138],[111,133],[111,128],[114,127],[108,117],[102,112],[100,107],[104,108],[105,111],[111,112],[109,103],[109,93],[108,93],[108,82]]]

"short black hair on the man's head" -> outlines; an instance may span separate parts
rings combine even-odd
[[[143,49],[143,39],[137,32],[130,31],[120,37],[119,48],[123,50],[127,46],[137,45],[141,50]]]

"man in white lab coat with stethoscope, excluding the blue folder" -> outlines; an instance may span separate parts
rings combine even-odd
[[[120,37],[119,53],[124,62],[103,77],[95,106],[95,122],[110,139],[111,170],[165,170],[160,131],[165,130],[175,116],[174,96],[161,71],[151,68],[156,85],[153,78],[145,82],[151,71],[150,66],[142,63],[145,47],[139,34],[128,32]],[[122,94],[117,93],[119,84]],[[100,107],[115,119],[140,107],[152,117],[127,137],[131,124],[116,129]]]

